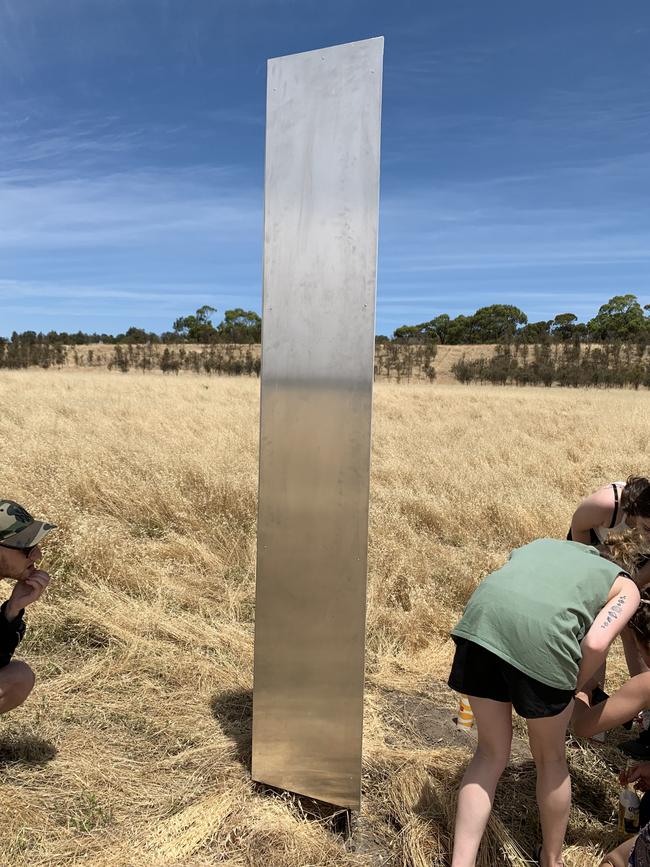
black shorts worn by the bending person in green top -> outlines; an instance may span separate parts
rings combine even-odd
[[[448,683],[455,692],[510,702],[524,719],[557,716],[573,700],[575,690],[547,686],[480,644],[453,638],[456,653]]]

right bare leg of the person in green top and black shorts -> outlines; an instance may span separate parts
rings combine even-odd
[[[565,737],[573,702],[561,714],[526,720],[528,741],[537,768],[537,806],[542,826],[542,867],[562,864],[562,845],[571,807],[571,781]]]

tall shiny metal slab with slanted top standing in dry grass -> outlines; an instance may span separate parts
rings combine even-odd
[[[253,778],[361,796],[383,38],[269,61]]]

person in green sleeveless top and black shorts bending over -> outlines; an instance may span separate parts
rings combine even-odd
[[[562,863],[571,805],[565,734],[586,684],[636,611],[639,589],[592,546],[538,539],[512,552],[470,598],[452,631],[449,686],[474,712],[478,745],[461,782],[452,867],[473,867],[508,763],[512,708],[537,769],[542,867]]]

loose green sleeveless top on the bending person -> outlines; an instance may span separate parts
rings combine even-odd
[[[580,642],[623,571],[590,545],[537,539],[481,582],[451,634],[548,686],[575,689]]]

